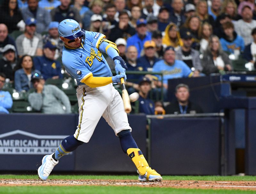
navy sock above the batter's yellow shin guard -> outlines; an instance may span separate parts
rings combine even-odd
[[[125,154],[127,154],[126,151],[129,148],[138,148],[135,140],[132,137],[132,133],[130,132],[129,129],[123,130],[117,133],[117,135],[119,137],[121,147]]]

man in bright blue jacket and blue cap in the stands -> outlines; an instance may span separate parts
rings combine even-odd
[[[137,33],[127,39],[127,47],[134,45],[138,50],[138,56],[140,56],[145,41],[151,40],[151,34],[147,32],[147,21],[144,18],[138,19],[136,25]]]

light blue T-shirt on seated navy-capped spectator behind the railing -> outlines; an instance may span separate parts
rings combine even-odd
[[[163,73],[163,83],[168,84],[168,79],[191,77],[193,72],[186,63],[180,60],[175,60],[172,66],[167,65],[164,60],[157,61],[153,66],[154,72]],[[161,80],[161,76],[157,75]]]

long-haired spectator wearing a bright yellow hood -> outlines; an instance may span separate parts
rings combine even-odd
[[[178,31],[176,24],[170,23],[166,26],[162,41],[164,47],[172,46],[175,48],[183,46],[182,40],[180,38],[180,32]]]

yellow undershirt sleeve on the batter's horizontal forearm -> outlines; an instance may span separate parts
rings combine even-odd
[[[86,79],[82,81],[86,85],[90,86],[91,88],[96,88],[100,86],[108,85],[109,83],[112,83],[112,77],[93,77],[90,75]]]

